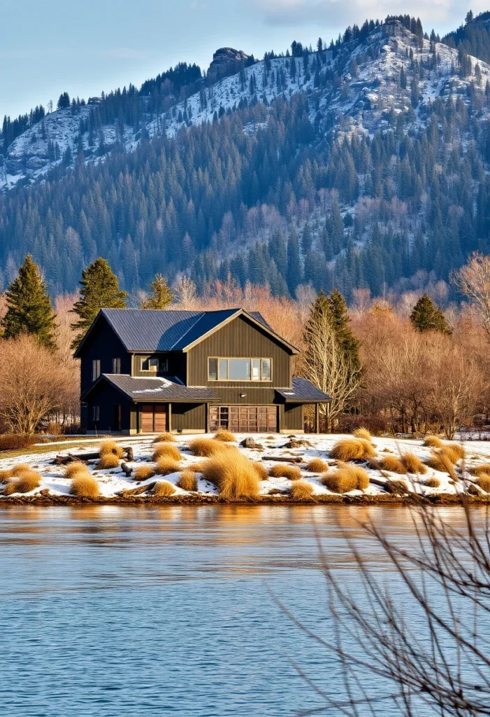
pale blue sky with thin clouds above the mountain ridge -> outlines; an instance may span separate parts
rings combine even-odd
[[[49,100],[141,85],[177,62],[206,69],[218,47],[255,57],[293,39],[330,42],[387,14],[444,34],[490,0],[0,0],[0,120]]]

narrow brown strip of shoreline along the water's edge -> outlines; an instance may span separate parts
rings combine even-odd
[[[431,493],[430,495],[392,495],[391,493],[381,495],[315,495],[307,500],[293,500],[288,495],[261,495],[253,499],[225,499],[219,495],[113,495],[99,496],[98,498],[80,498],[76,495],[12,495],[8,499],[1,498],[0,508],[9,505],[35,505],[36,507],[55,505],[332,505],[342,503],[343,505],[489,505],[489,495],[468,495],[454,493]]]

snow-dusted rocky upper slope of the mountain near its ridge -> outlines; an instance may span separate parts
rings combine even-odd
[[[400,22],[388,21],[363,41],[343,44],[335,56],[324,50],[306,57],[275,57],[209,87],[203,82],[200,92],[165,113],[144,114],[144,126],[137,130],[114,123],[97,128],[94,136],[87,129],[94,105],[82,105],[77,113],[70,108],[59,110],[11,143],[3,166],[0,164],[0,191],[43,179],[57,166],[73,166],[81,150],[86,162],[102,161],[114,148],[132,151],[142,137],[163,133],[175,137],[186,127],[216,121],[244,103],[269,104],[279,96],[288,100],[297,92],[308,95],[317,138],[330,133],[341,138],[356,132],[372,136],[392,126],[393,114],[399,113],[408,116],[408,129],[420,126],[434,100],[460,97],[469,103],[472,83],[486,86],[489,65],[474,57],[469,63],[471,73],[461,77],[456,49],[422,40]],[[423,68],[423,79],[414,80],[413,65]],[[140,101],[144,103],[144,98]],[[483,108],[482,118],[486,113]]]

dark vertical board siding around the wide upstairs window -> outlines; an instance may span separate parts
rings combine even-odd
[[[223,358],[272,359],[272,381],[209,381],[207,376],[207,359],[212,356]],[[275,341],[268,333],[249,321],[244,316],[225,324],[207,338],[197,343],[187,352],[187,386],[210,386],[220,395],[230,394],[223,402],[239,402],[247,404],[273,403],[273,391],[267,391],[267,398],[259,398],[256,389],[288,388],[291,386],[291,357],[283,344]],[[237,386],[243,391],[237,391]],[[232,389],[235,387],[235,390]],[[225,390],[222,390],[225,389]],[[228,389],[226,391],[226,389]],[[248,400],[232,401],[240,393],[250,394]],[[256,394],[256,398],[252,398]]]

